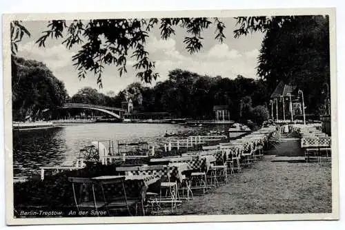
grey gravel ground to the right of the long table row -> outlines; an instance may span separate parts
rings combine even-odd
[[[331,212],[331,163],[282,160],[286,157],[264,156],[228,185],[178,207],[177,215]]]

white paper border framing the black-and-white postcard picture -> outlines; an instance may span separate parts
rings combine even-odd
[[[238,17],[258,15],[311,15],[328,14],[330,22],[331,68],[331,128],[332,128],[332,213],[209,215],[209,216],[144,216],[103,218],[14,218],[12,168],[12,88],[10,21],[51,19],[108,19],[148,17]],[[337,76],[336,76],[335,8],[285,8],[258,10],[188,10],[152,12],[82,12],[63,14],[3,14],[3,107],[4,147],[6,165],[6,223],[27,224],[96,224],[96,223],[174,223],[174,222],[229,222],[268,220],[337,220],[339,219],[339,152],[337,132]]]

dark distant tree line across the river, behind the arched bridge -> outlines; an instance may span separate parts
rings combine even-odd
[[[121,102],[128,96],[137,112],[169,112],[175,118],[195,119],[213,119],[213,106],[227,105],[230,118],[238,121],[255,119],[256,110],[266,111],[269,93],[261,79],[238,75],[232,80],[176,69],[169,72],[166,81],[158,82],[155,87],[132,83],[117,95],[114,92],[105,95],[84,87],[72,96],[70,102],[121,107]]]

